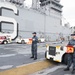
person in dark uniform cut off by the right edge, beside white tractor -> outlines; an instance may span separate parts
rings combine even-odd
[[[75,73],[75,34],[71,34],[71,37],[72,39],[69,41],[68,45],[74,47],[74,52],[68,54],[68,64],[67,64],[67,68],[65,68],[64,71],[69,71],[70,66],[73,63],[72,74],[74,74]]]

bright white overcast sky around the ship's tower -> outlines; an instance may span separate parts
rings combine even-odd
[[[26,6],[31,6],[32,0],[26,0]],[[62,15],[70,27],[75,26],[75,0],[60,0],[63,5]]]

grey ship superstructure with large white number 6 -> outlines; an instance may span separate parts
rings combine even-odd
[[[32,0],[31,8],[25,7],[24,1],[20,0],[19,3],[16,0],[0,1],[1,35],[11,34],[12,39],[17,36],[30,38],[36,31],[38,37],[44,37],[47,41],[59,40],[60,37],[67,39],[71,31],[69,27],[62,26],[62,7],[60,0]],[[8,21],[2,17],[8,18]]]

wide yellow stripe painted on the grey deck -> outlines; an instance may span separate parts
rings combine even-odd
[[[0,75],[29,75],[34,72],[40,71],[51,66],[52,63],[48,60],[31,63],[28,65],[20,66],[14,69],[0,72]]]

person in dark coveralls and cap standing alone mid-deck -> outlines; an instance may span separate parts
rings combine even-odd
[[[33,37],[32,37],[32,46],[31,46],[31,53],[32,57],[34,60],[37,59],[37,43],[38,43],[38,38],[36,36],[36,32],[33,32]]]

